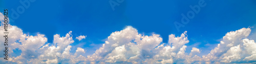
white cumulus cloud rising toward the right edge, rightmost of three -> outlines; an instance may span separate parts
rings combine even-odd
[[[250,28],[241,28],[236,31],[230,31],[223,37],[223,41],[221,41],[217,47],[212,49],[208,55],[203,56],[204,60],[214,63],[253,61],[256,48],[250,46],[256,44],[254,40],[246,39],[249,36],[250,31]]]

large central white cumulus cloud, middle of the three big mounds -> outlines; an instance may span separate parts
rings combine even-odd
[[[180,37],[169,35],[169,45],[164,46],[160,44],[160,35],[144,36],[132,26],[127,26],[112,33],[102,47],[88,58],[99,63],[184,63],[181,61],[195,57],[196,52],[200,53],[197,48],[193,49],[194,56],[185,53],[185,44],[189,42],[186,33]]]

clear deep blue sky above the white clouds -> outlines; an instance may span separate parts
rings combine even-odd
[[[13,0],[0,2],[1,12],[3,8],[16,10],[18,6],[22,6]],[[75,42],[70,45],[84,48],[88,55],[101,47],[113,32],[123,30],[127,25],[136,28],[139,34],[159,34],[163,39],[161,43],[168,43],[170,34],[177,37],[187,31],[187,50],[191,50],[192,46],[206,50],[199,56],[208,54],[229,31],[255,27],[256,1],[205,0],[206,6],[201,7],[200,12],[178,31],[174,22],[181,23],[181,14],[191,11],[189,6],[198,5],[198,2],[124,0],[112,10],[109,1],[37,0],[30,3],[29,8],[19,14],[18,18],[13,19],[10,15],[13,19],[10,24],[21,28],[25,34],[44,34],[48,43],[53,43],[53,35],[65,36],[72,31]],[[252,34],[256,32],[255,28],[251,30]],[[75,40],[80,35],[87,37],[82,41]],[[75,53],[76,48],[72,49],[72,53]]]

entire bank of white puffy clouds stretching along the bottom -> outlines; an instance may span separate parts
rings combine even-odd
[[[2,13],[1,13],[2,14]],[[3,14],[0,17],[3,16]],[[3,21],[1,19],[1,21]],[[3,25],[0,33],[4,32]],[[256,44],[249,40],[250,28],[241,28],[228,32],[217,47],[209,54],[198,56],[204,50],[193,47],[190,53],[186,53],[186,45],[189,43],[187,31],[180,36],[169,35],[168,43],[162,43],[160,35],[150,36],[138,33],[136,28],[127,26],[125,29],[113,32],[108,40],[92,55],[87,55],[86,50],[77,47],[75,53],[71,53],[74,43],[72,31],[65,36],[54,35],[52,45],[47,42],[45,35],[31,36],[23,33],[17,26],[9,25],[8,53],[15,53],[19,49],[22,52],[18,56],[9,56],[9,63],[252,63],[256,61]],[[1,34],[3,36],[3,34]],[[79,41],[86,36],[76,37]],[[0,42],[4,42],[0,37]],[[4,50],[0,45],[0,50]],[[2,53],[1,53],[2,54]],[[3,55],[3,54],[2,54]],[[4,56],[0,56],[3,58]]]

